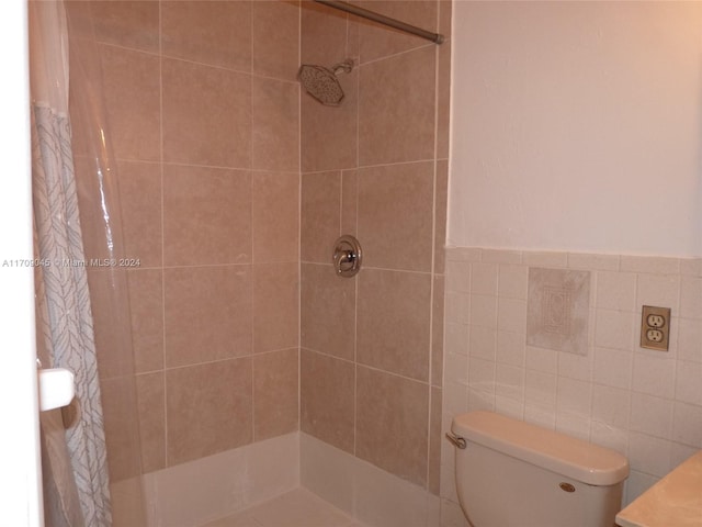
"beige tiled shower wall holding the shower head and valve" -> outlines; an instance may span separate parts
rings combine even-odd
[[[451,2],[359,3],[450,37]],[[354,61],[340,106],[301,99],[301,429],[438,494],[450,38],[308,1],[301,36],[303,64]],[[363,246],[352,279],[341,234]]]

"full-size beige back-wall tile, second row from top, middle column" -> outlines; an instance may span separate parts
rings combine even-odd
[[[163,160],[251,166],[251,77],[163,59]]]

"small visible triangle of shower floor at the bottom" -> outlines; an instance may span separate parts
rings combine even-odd
[[[367,527],[305,489],[295,489],[202,527]]]

